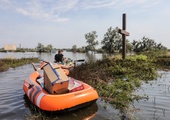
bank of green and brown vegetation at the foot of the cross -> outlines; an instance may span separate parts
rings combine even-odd
[[[170,57],[157,53],[127,56],[125,60],[113,57],[77,66],[70,76],[92,85],[103,100],[126,113],[134,100],[148,99],[133,92],[142,82],[157,79],[158,69],[169,69],[167,65],[170,67]]]

